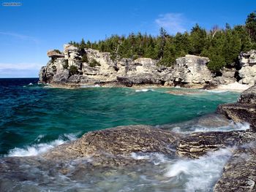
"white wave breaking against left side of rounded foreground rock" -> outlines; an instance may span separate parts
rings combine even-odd
[[[69,142],[75,139],[78,139],[78,134],[64,134],[63,136],[59,137],[59,139],[53,140],[52,142],[47,143],[39,143],[33,144],[26,147],[15,147],[14,149],[10,150],[5,157],[14,157],[14,156],[33,156],[45,153],[46,151],[61,145],[65,142]],[[39,135],[36,139],[36,142],[40,142],[40,140],[44,137],[44,135]]]

